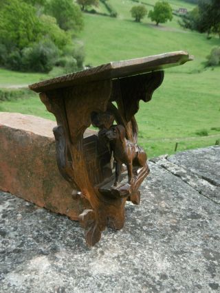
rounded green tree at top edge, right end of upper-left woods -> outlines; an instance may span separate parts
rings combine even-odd
[[[51,0],[45,12],[55,17],[63,30],[79,31],[83,28],[83,14],[73,0]]]

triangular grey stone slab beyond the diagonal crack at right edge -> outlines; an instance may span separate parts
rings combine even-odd
[[[152,161],[220,204],[220,146],[162,155]]]

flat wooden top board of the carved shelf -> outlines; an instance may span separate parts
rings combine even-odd
[[[167,67],[182,65],[187,61],[192,60],[193,56],[190,56],[188,52],[170,52],[126,61],[110,62],[98,67],[92,67],[80,72],[75,72],[73,74],[43,80],[39,83],[29,85],[29,87],[33,91],[40,93],[50,91],[52,89],[60,89],[78,84],[91,83],[96,80],[105,80],[109,78],[114,79],[144,74],[147,72],[165,69]]]

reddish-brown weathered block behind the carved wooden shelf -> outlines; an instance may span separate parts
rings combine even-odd
[[[54,126],[43,118],[0,113],[0,190],[78,219],[84,202],[72,197],[56,166]]]

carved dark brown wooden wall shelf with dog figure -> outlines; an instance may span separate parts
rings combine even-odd
[[[162,84],[162,69],[190,60],[187,52],[171,52],[30,85],[56,116],[58,169],[73,195],[87,201],[79,221],[89,246],[100,240],[107,226],[123,227],[126,200],[140,203],[138,188],[149,173],[146,153],[137,145],[135,113],[140,100],[151,100]],[[83,139],[91,124],[99,129],[97,135]]]

